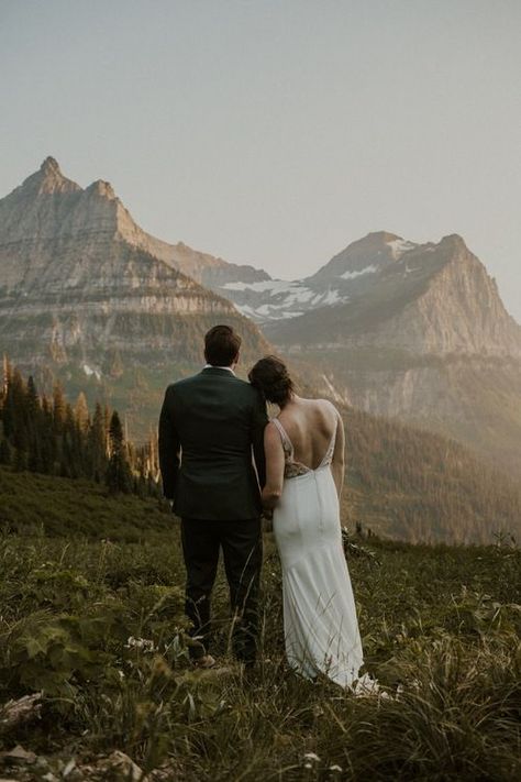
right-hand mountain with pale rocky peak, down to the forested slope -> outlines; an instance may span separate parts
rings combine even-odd
[[[280,350],[306,356],[337,400],[454,437],[519,475],[521,327],[461,236],[369,234],[306,282],[317,279],[342,300],[265,324]]]

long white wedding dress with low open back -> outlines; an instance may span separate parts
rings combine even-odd
[[[288,662],[307,679],[323,673],[341,686],[356,689],[363,654],[331,473],[336,430],[322,462],[311,470],[295,461],[286,430],[277,418],[271,420],[285,452],[274,535],[282,565]]]

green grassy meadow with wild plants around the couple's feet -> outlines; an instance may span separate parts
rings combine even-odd
[[[3,477],[0,778],[519,779],[521,552],[506,540],[464,548],[351,538],[366,670],[391,696],[355,698],[288,670],[270,533],[258,667],[245,672],[229,656],[221,574],[222,665],[195,671],[179,532],[162,500],[111,498],[84,481]],[[33,483],[23,502],[20,485],[9,494],[16,481],[25,492]],[[9,702],[31,693],[42,693],[38,712],[12,724]],[[10,755],[16,745],[22,758]]]

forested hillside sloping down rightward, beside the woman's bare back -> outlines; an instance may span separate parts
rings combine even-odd
[[[454,440],[344,409],[350,528],[410,542],[521,540],[521,492]]]

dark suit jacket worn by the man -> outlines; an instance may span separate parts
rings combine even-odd
[[[229,370],[208,367],[168,386],[159,417],[159,466],[174,511],[228,521],[258,517],[266,423],[258,392]]]

